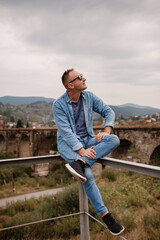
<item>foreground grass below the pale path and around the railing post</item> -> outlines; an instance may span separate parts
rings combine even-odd
[[[160,232],[160,179],[116,171],[107,167],[96,178],[104,203],[126,228],[129,240],[158,240]],[[79,211],[78,184],[70,185],[56,196],[15,203],[0,211],[0,228]],[[89,203],[89,212],[97,216]],[[90,219],[91,240],[115,239],[107,229]],[[36,224],[8,232],[0,239],[80,240],[79,216]]]

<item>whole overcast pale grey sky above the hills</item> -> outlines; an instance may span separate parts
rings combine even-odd
[[[72,67],[107,104],[160,108],[160,1],[0,0],[0,96],[57,98]]]

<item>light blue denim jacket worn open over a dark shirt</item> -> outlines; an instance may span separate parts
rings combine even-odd
[[[115,114],[100,98],[89,91],[83,91],[82,99],[88,135],[95,136],[93,132],[93,111],[105,118],[105,127],[114,127]],[[73,151],[79,150],[82,144],[79,141],[80,137],[76,135],[72,104],[67,91],[53,103],[53,115],[58,127],[59,152],[63,152],[68,147]]]

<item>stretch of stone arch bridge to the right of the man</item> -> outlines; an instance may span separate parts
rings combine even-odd
[[[95,132],[103,131],[97,127]],[[120,139],[120,146],[112,152],[111,157],[127,159],[131,144],[136,149],[138,162],[160,163],[160,127],[121,126],[115,127],[114,134]]]

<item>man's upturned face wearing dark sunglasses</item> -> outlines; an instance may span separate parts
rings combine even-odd
[[[69,73],[67,84],[77,91],[83,91],[87,88],[86,78],[84,78],[79,72],[75,70]]]

